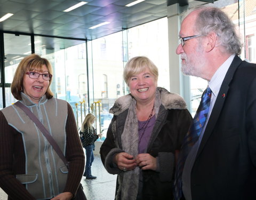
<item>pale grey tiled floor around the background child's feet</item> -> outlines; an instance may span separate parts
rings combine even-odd
[[[94,158],[92,175],[95,175],[97,179],[86,180],[83,177],[81,181],[87,200],[114,200],[117,175],[109,174],[105,170],[99,155],[95,155]],[[6,199],[7,195],[0,188],[0,200]]]

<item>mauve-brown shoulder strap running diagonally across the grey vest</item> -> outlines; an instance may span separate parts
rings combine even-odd
[[[62,159],[63,163],[65,163],[68,166],[67,159],[65,158],[64,154],[62,153],[59,145],[53,139],[53,137],[49,133],[49,131],[47,131],[47,129],[45,129],[44,125],[37,119],[37,117],[20,101],[15,102],[14,105],[16,105],[20,109],[22,109],[29,116],[29,118],[37,125],[38,129],[44,134],[45,138],[49,141],[49,143],[51,144],[53,149],[56,151],[56,153]]]

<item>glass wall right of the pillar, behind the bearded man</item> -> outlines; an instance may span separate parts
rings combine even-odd
[[[244,43],[241,59],[256,63],[256,1],[253,0],[219,0],[210,4],[222,8],[236,25]],[[207,87],[202,78],[190,77],[191,114],[194,116],[199,106],[201,95]]]

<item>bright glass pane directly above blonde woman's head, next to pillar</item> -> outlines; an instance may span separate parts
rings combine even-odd
[[[158,67],[158,86],[170,91],[167,18],[128,29],[129,59],[145,55]]]

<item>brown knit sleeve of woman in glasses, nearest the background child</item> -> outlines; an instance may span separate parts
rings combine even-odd
[[[68,118],[66,124],[67,146],[66,158],[69,161],[68,179],[64,191],[76,194],[84,171],[84,151],[77,132],[73,110],[68,104]]]

